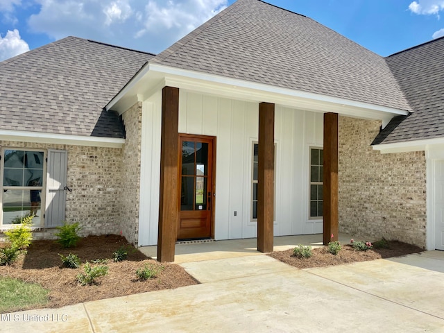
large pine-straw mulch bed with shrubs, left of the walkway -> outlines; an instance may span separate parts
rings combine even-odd
[[[143,293],[160,289],[173,289],[191,284],[198,284],[182,267],[176,264],[160,264],[149,259],[133,248],[128,259],[123,262],[113,262],[112,253],[121,246],[130,246],[125,238],[115,235],[89,236],[80,239],[75,248],[62,248],[54,241],[33,241],[26,255],[21,255],[11,266],[0,266],[0,276],[18,278],[25,282],[34,282],[49,289],[49,303],[42,306],[27,307],[37,309],[42,307],[63,307],[90,300],[101,300],[125,296],[133,293]],[[97,278],[96,285],[83,287],[76,282],[76,275],[82,273],[81,268],[63,268],[58,253],[68,255],[74,253],[82,263],[88,260],[109,259],[105,264],[109,267],[108,275]],[[138,268],[145,264],[164,266],[157,278],[140,281],[135,275]],[[24,310],[11,309],[10,311]]]

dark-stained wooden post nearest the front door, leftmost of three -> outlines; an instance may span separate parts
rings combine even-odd
[[[162,89],[160,202],[157,260],[173,262],[178,223],[179,89]]]

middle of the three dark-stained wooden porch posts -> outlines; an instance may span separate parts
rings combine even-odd
[[[257,175],[257,250],[273,251],[275,172],[275,105],[259,103]]]

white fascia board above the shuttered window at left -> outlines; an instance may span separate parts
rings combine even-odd
[[[0,130],[0,140],[107,148],[122,148],[123,144],[125,144],[125,139],[111,137],[84,137],[82,135],[25,132],[21,130]]]

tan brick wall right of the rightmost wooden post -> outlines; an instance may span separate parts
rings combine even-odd
[[[373,151],[380,126],[339,117],[339,231],[425,248],[425,153]]]

